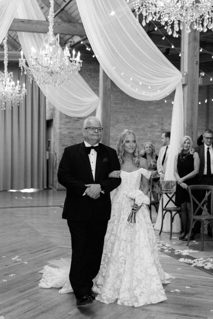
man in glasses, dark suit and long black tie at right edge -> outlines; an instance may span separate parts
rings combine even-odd
[[[212,130],[205,130],[203,133],[204,144],[195,147],[195,152],[198,152],[200,157],[200,168],[198,172],[198,181],[200,185],[213,185],[213,132]],[[205,190],[200,190],[199,200],[202,201],[205,196]],[[208,210],[210,211],[210,197],[208,201]],[[202,214],[202,210],[198,211],[198,215]],[[194,233],[200,233],[200,222],[194,225]],[[211,227],[208,225],[208,234],[212,237]]]

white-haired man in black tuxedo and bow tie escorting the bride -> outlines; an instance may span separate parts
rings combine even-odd
[[[66,187],[62,218],[67,219],[72,241],[70,283],[77,305],[91,303],[111,213],[110,192],[121,179],[109,178],[120,170],[117,153],[100,142],[101,123],[91,116],[84,121],[84,142],[66,147],[58,167],[58,182]]]

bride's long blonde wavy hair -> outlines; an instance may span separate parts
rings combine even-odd
[[[120,165],[122,166],[124,164],[124,143],[126,141],[126,137],[128,134],[133,134],[135,137],[135,134],[133,133],[133,131],[131,130],[124,130],[118,140],[118,145],[117,145],[117,155],[118,155],[118,160],[120,162]],[[136,167],[139,167],[140,165],[140,157],[139,157],[139,150],[138,150],[138,143],[137,143],[137,139],[135,137],[136,140],[136,148],[133,152],[133,164]]]

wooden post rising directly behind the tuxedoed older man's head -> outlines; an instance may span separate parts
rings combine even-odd
[[[111,79],[106,75],[100,65],[99,69],[99,97],[102,101],[102,143],[110,145],[110,94],[111,94]]]

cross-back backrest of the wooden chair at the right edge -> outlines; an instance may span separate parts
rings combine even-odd
[[[191,209],[193,211],[193,215],[196,215],[199,209],[202,209],[207,215],[213,215],[213,186],[210,185],[190,185],[187,186],[187,191],[189,192],[190,196],[190,202],[191,202]],[[192,191],[199,191],[199,190],[206,190],[206,196],[203,197],[202,201],[199,203],[198,199],[196,198],[196,195],[194,196],[192,194]],[[211,204],[210,204],[210,212],[206,209],[206,201],[208,200],[209,196],[211,196]],[[197,204],[194,206],[194,203]],[[195,208],[196,207],[196,208]]]

